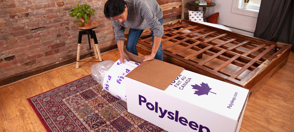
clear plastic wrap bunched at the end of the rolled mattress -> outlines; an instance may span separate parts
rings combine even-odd
[[[103,80],[105,73],[108,72],[110,67],[115,63],[112,60],[105,60],[103,62],[96,63],[90,66],[91,76],[101,85],[103,85]]]

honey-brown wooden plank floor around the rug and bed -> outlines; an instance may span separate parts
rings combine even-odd
[[[116,61],[117,50],[102,54]],[[90,58],[88,60],[95,59]],[[0,87],[0,131],[46,131],[27,98],[90,74],[90,65],[80,62],[59,67],[11,85]],[[294,131],[294,53],[265,85],[248,99],[240,131]]]

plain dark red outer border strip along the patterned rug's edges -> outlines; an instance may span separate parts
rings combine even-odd
[[[91,75],[87,75],[87,76],[85,76],[85,77],[88,77],[88,76],[91,76]],[[82,77],[82,78],[80,78],[80,79],[83,79],[83,78],[85,78],[85,77]],[[80,80],[80,79],[77,79],[77,80]],[[69,82],[69,83],[75,82],[75,81],[77,81],[77,80],[71,81],[71,82]],[[69,83],[66,83],[66,84],[64,84],[64,85],[67,85],[67,84],[69,84]],[[59,86],[59,87],[62,87],[62,86],[64,86],[64,85],[61,85],[61,86]],[[56,87],[56,88],[59,88],[59,87]],[[48,90],[48,91],[46,91],[46,92],[52,91],[52,90],[54,90],[54,89],[56,89],[56,88],[53,88],[53,89]],[[40,94],[35,95],[35,96],[31,97],[31,98],[34,98],[34,97],[39,96],[39,95],[41,95],[41,94],[44,94],[44,93],[46,93],[46,92],[40,93]],[[29,104],[30,104],[31,107],[33,108],[34,112],[36,113],[37,117],[38,117],[39,120],[41,121],[41,123],[42,123],[42,125],[44,126],[44,128],[46,129],[46,131],[47,131],[47,132],[52,132],[51,129],[50,129],[50,127],[47,125],[46,121],[44,120],[44,118],[42,118],[41,113],[38,112],[37,108],[36,108],[35,105],[32,103],[31,98],[27,98],[26,100],[28,100]]]

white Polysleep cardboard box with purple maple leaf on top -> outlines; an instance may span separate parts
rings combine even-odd
[[[156,65],[137,68],[158,75],[154,80],[165,80],[154,67],[169,65],[156,61]],[[144,70],[140,68],[145,68]],[[163,70],[169,73],[178,69]],[[128,112],[165,129],[166,131],[239,131],[249,90],[188,70],[183,70],[165,90],[138,80],[136,74],[126,75]],[[157,82],[160,83],[160,82]]]

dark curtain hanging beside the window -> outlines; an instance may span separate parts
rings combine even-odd
[[[294,52],[294,0],[262,0],[254,37],[292,44]]]

